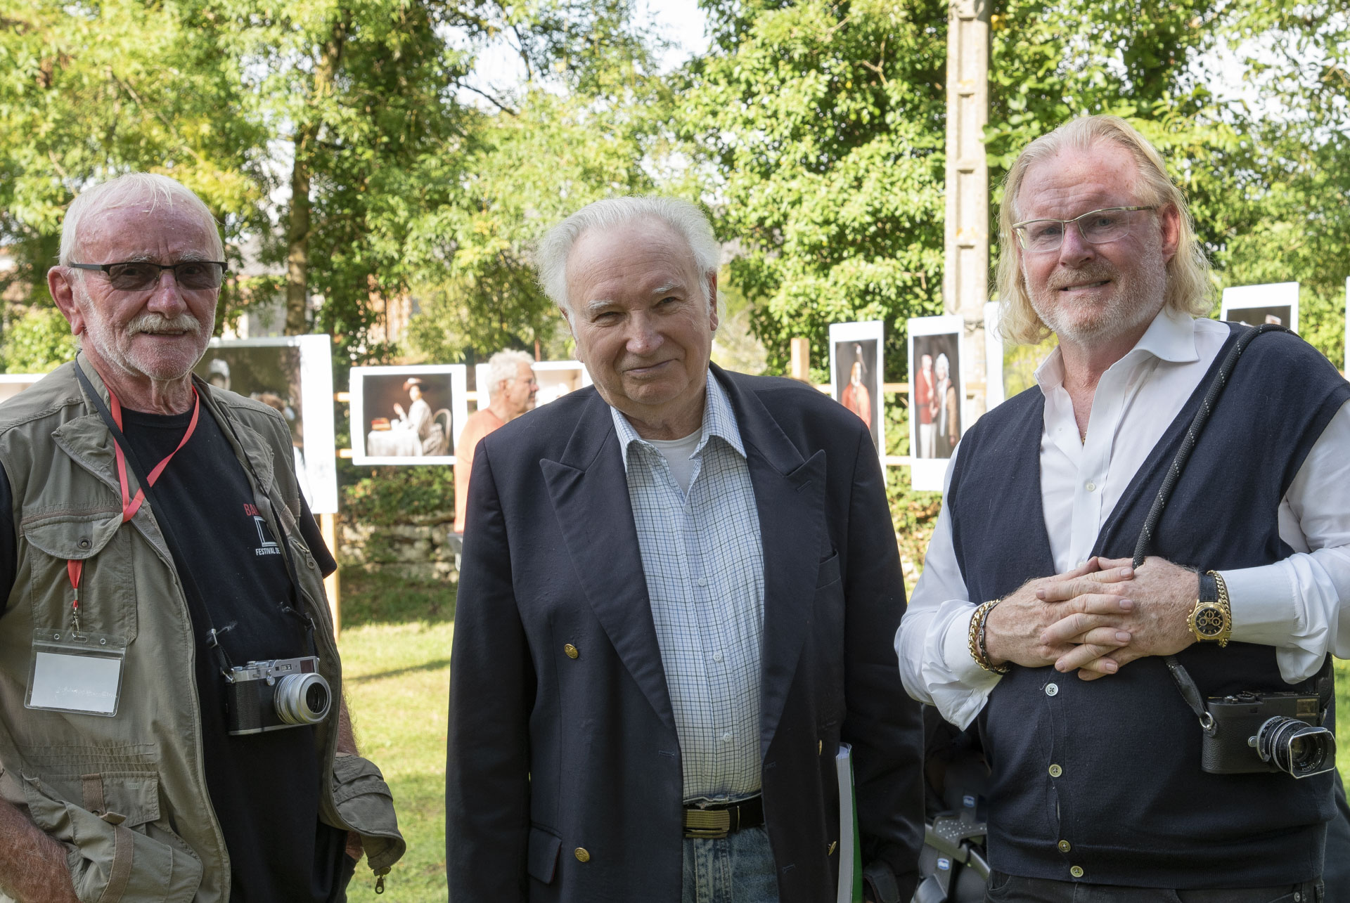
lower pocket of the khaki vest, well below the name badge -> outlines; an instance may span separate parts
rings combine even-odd
[[[78,783],[82,804],[66,802],[55,792],[55,783]],[[81,900],[189,903],[197,894],[201,860],[155,823],[157,773],[101,772],[55,777],[53,784],[24,777],[23,791],[34,823],[74,848],[66,864]]]

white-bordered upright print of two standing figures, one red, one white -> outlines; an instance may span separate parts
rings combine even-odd
[[[942,490],[952,449],[965,429],[961,331],[959,316],[909,321],[910,481],[914,489]]]

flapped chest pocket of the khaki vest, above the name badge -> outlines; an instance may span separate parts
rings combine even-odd
[[[80,629],[136,638],[136,583],[131,549],[132,528],[122,529],[122,512],[58,512],[24,514],[19,560],[27,567],[32,624],[68,630],[74,590],[69,562],[78,562]]]

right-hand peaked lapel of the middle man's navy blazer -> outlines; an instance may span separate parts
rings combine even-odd
[[[825,537],[825,451],[803,460],[763,402],[714,367],[745,443],[764,549],[760,750],[767,752],[811,630]]]

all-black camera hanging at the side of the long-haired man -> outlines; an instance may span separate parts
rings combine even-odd
[[[1336,738],[1322,726],[1318,696],[1251,692],[1210,696],[1200,764],[1211,775],[1282,771],[1311,777],[1336,767]]]

